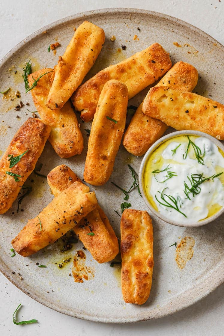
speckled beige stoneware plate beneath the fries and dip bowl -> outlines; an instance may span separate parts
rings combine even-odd
[[[88,78],[104,67],[158,42],[170,52],[173,63],[183,60],[197,68],[199,80],[194,92],[224,102],[224,78],[221,76],[224,49],[212,37],[179,19],[146,10],[116,8],[90,11],[44,27],[18,44],[2,59],[0,89],[4,91],[10,86],[14,100],[0,101],[1,153],[6,150],[16,130],[32,116],[26,108],[30,111],[36,110],[31,94],[25,94],[22,67],[29,59],[33,70],[53,67],[73,36],[73,28],[78,27],[84,20],[102,27],[106,34],[102,52]],[[114,42],[110,40],[112,35],[116,37]],[[137,38],[134,40],[135,35]],[[55,40],[61,43],[56,55],[47,51],[49,44]],[[119,52],[117,49],[121,48],[121,45],[125,45],[126,50],[121,49]],[[14,96],[15,90],[21,92],[20,98]],[[130,104],[140,103],[146,93],[147,89],[133,98]],[[29,106],[25,105],[20,111],[14,111],[20,100],[24,104],[29,102]],[[46,175],[55,166],[65,163],[82,178],[88,142],[84,129],[90,127],[90,124],[81,123],[85,142],[81,156],[68,160],[60,159],[47,143],[38,161],[43,163],[41,173]],[[128,163],[138,171],[141,158],[130,155],[121,146],[110,180],[101,187],[91,186],[91,190],[96,191],[99,203],[118,237],[120,217],[114,210],[120,213],[124,195],[111,181],[124,189],[132,184]],[[12,238],[29,218],[35,217],[53,198],[46,179],[32,174],[26,184],[33,186],[33,192],[24,198],[18,213],[17,202],[14,202],[12,209],[0,216],[0,268],[14,285],[50,308],[98,322],[123,323],[155,319],[193,304],[223,281],[223,216],[203,227],[184,228],[167,224],[151,214],[154,226],[155,266],[150,298],[142,306],[124,303],[120,267],[110,267],[110,263],[98,264],[88,251],[85,251],[86,261],[83,266],[88,280],[84,280],[83,283],[74,282],[69,274],[72,274],[75,252],[82,249],[80,242],[74,244],[72,250],[67,253],[61,253],[58,243],[55,243],[31,257],[23,258],[16,254],[12,258]],[[137,191],[130,194],[129,201],[133,208],[147,210]],[[177,251],[175,245],[170,247],[175,242],[178,243]],[[60,269],[58,264],[70,257],[71,261]],[[47,267],[39,268],[37,262]]]

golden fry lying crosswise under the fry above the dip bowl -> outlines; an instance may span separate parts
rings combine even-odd
[[[181,91],[192,91],[197,84],[197,70],[185,62],[177,62],[155,86],[169,86]],[[145,109],[149,101],[149,93],[144,99]],[[143,102],[135,112],[123,136],[123,146],[136,156],[147,152],[149,147],[158,140],[168,126],[162,121],[151,118],[142,112]]]

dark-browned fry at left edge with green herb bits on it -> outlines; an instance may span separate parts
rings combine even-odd
[[[17,198],[24,182],[35,168],[45,142],[50,134],[50,127],[40,119],[29,118],[18,129],[12,138],[5,154],[0,160],[0,214],[11,208]],[[22,155],[21,159],[13,167],[9,168],[11,161],[9,156]],[[6,172],[17,174],[13,177]],[[16,182],[16,180],[18,181]]]

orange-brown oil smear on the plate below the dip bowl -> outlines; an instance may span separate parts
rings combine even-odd
[[[195,240],[191,237],[184,237],[177,245],[175,260],[180,269],[193,257]]]

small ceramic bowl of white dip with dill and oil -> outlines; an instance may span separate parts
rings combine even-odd
[[[139,172],[142,197],[163,221],[196,227],[224,212],[224,146],[199,131],[178,131],[156,141]]]

